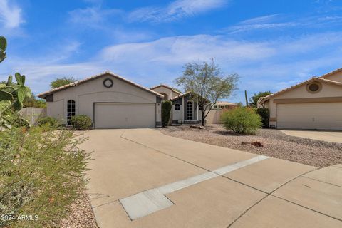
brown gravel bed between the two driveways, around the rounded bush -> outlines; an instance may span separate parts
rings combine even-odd
[[[207,125],[205,130],[189,128],[188,125],[160,128],[165,135],[204,142],[259,155],[276,157],[316,167],[342,163],[342,144],[311,140],[286,135],[276,129],[261,129],[257,135],[238,135],[225,130],[222,125]],[[255,147],[242,142],[261,142]]]

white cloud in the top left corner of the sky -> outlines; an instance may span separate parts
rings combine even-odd
[[[0,23],[4,28],[17,28],[23,22],[19,6],[9,4],[7,0],[0,0]]]

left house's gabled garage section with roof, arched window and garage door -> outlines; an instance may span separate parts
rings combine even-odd
[[[163,96],[105,71],[38,94],[47,115],[69,124],[73,115],[88,115],[93,128],[155,128],[161,125]]]

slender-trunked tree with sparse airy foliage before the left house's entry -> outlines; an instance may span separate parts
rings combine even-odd
[[[229,98],[237,88],[239,76],[234,73],[224,76],[212,59],[209,62],[192,62],[184,66],[183,75],[175,80],[178,86],[190,92],[197,100],[202,113],[202,125],[217,100]]]

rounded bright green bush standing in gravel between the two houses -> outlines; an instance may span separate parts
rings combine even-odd
[[[239,134],[255,134],[261,128],[261,117],[252,108],[236,108],[222,113],[224,128]]]

